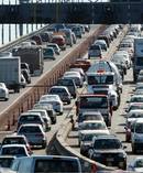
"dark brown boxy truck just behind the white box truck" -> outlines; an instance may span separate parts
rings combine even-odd
[[[40,76],[44,69],[43,48],[38,45],[16,46],[13,56],[20,56],[21,63],[28,63],[31,76]]]

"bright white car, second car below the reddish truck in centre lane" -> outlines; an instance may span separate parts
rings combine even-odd
[[[97,134],[110,134],[106,122],[101,121],[101,120],[87,120],[87,121],[82,121],[79,127],[78,127],[78,143],[80,145],[81,139],[82,139],[82,134],[86,132],[96,132]]]

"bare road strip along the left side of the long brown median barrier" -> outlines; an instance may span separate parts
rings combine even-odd
[[[44,61],[44,73],[51,71],[53,68],[53,66],[55,66],[56,64],[58,64],[70,51],[73,51],[84,40],[86,40],[90,34],[92,34],[98,26],[99,26],[99,24],[91,25],[90,32],[84,34],[82,39],[78,39],[77,40],[77,44],[73,45],[73,47],[67,46],[66,51],[62,51],[61,55],[57,56],[56,61]],[[28,85],[25,88],[22,88],[21,91],[20,91],[20,94],[10,94],[10,99],[8,101],[0,101],[0,112],[6,111],[6,109],[8,107],[10,107],[11,104],[13,104],[13,101],[15,101],[21,95],[23,95],[24,93],[26,93],[28,89],[30,89],[30,86],[34,85],[40,79],[40,77],[42,77],[42,75],[37,76],[37,77],[32,77],[32,84]]]

